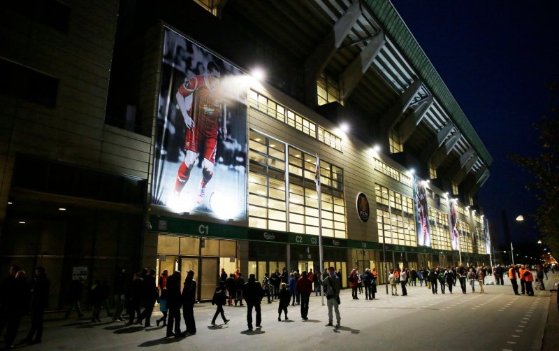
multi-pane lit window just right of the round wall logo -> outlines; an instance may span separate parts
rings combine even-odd
[[[417,246],[413,199],[378,184],[375,195],[379,242]]]

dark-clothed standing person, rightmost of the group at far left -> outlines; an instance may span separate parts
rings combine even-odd
[[[41,343],[43,337],[43,312],[48,306],[50,280],[45,274],[45,267],[38,266],[35,280],[31,284],[31,329],[27,334],[27,343]],[[35,336],[35,338],[33,338]]]

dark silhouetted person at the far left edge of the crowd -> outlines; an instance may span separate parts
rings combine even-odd
[[[16,266],[17,267],[17,266]],[[6,336],[4,343],[6,350],[13,348],[13,342],[20,329],[22,315],[27,313],[29,309],[29,289],[27,287],[27,275],[24,271],[17,268],[15,278],[10,280],[10,285],[5,286],[6,289]]]

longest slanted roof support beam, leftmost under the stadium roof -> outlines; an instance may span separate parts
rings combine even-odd
[[[354,1],[347,11],[335,22],[334,27],[321,43],[314,49],[314,52],[307,57],[305,62],[305,85],[307,87],[307,103],[311,106],[317,105],[317,78],[324,71],[326,65],[340,48],[342,42],[354,27],[355,22],[361,15],[361,1]]]

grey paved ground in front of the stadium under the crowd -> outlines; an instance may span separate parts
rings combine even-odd
[[[556,280],[559,274],[549,276],[548,289]],[[200,303],[195,308],[198,333],[187,338],[164,338],[163,327],[128,327],[124,323],[110,322],[110,317],[101,317],[99,323],[89,323],[89,313],[80,320],[60,320],[56,319],[57,315],[48,315],[52,320],[45,323],[43,343],[26,348],[540,350],[550,306],[549,291],[536,290],[536,296],[531,297],[515,296],[510,285],[486,285],[485,289],[485,294],[471,294],[468,290],[464,295],[458,284],[453,289],[454,294],[441,294],[439,290],[439,294],[433,295],[426,287],[418,286],[408,287],[408,296],[391,296],[386,295],[381,286],[378,299],[374,301],[366,301],[364,295],[352,300],[351,291],[346,289],[342,292],[340,329],[325,326],[327,309],[321,306],[320,296],[314,294],[310,302],[310,320],[300,320],[296,306],[289,308],[289,320],[277,322],[277,302],[264,303],[263,327],[254,331],[247,330],[246,308],[226,307],[226,316],[231,322],[212,327],[210,321],[215,307]],[[22,325],[17,340],[27,329],[27,323]],[[546,337],[546,341],[548,339]]]

